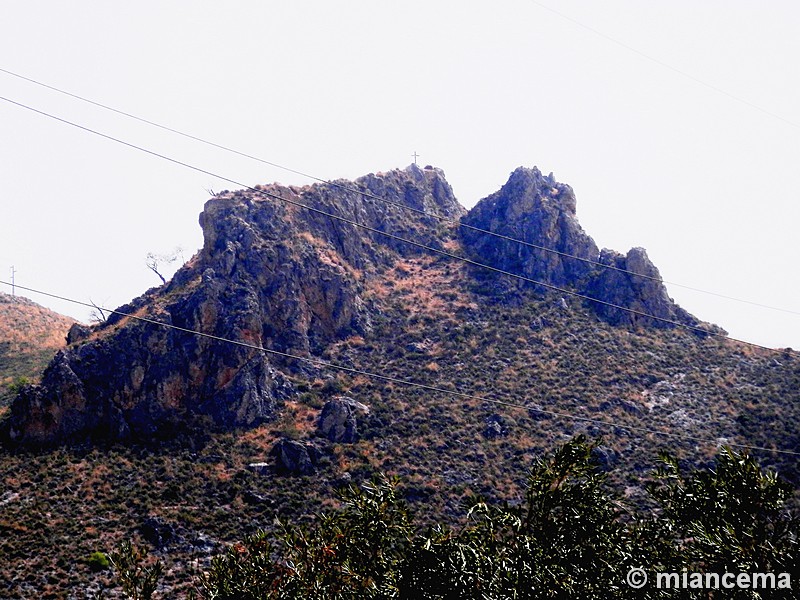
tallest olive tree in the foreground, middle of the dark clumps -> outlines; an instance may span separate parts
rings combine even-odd
[[[476,498],[466,525],[437,528],[404,565],[408,598],[609,598],[630,554],[621,507],[583,437],[538,459],[525,500]]]

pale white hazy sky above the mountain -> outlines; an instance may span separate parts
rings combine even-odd
[[[800,312],[798,31],[790,1],[0,0],[0,68],[325,179],[416,151],[467,207],[538,166],[600,247]],[[248,185],[310,183],[3,73],[0,96]],[[0,279],[119,306],[159,283],[148,252],[200,247],[205,190],[232,187],[0,102]],[[800,348],[798,314],[668,288]]]

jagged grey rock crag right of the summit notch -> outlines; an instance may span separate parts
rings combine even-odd
[[[466,226],[461,229],[462,241],[476,260],[541,282],[543,290],[555,286],[597,299],[600,302],[586,302],[611,323],[697,324],[668,296],[658,269],[643,249],[633,248],[626,256],[598,250],[578,223],[572,188],[557,182],[552,173],[544,176],[536,167],[516,169],[498,192],[481,200],[461,222]],[[504,285],[535,286],[510,278]]]

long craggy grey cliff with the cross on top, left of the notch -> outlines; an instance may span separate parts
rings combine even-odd
[[[293,393],[282,369],[298,366],[256,348],[308,354],[367,334],[364,280],[421,251],[378,231],[443,247],[439,219],[403,206],[448,219],[465,212],[441,170],[416,165],[355,182],[218,194],[200,215],[198,255],[167,285],[118,309],[181,329],[121,314],[91,331],[74,328],[41,385],[17,397],[0,439],[153,440],[271,418]]]

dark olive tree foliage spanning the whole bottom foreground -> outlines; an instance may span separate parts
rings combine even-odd
[[[637,512],[609,489],[597,445],[576,437],[536,460],[517,503],[469,498],[459,527],[416,527],[396,479],[349,486],[315,524],[279,524],[233,545],[195,588],[207,600],[793,597],[630,587],[633,567],[796,578],[792,489],[728,449],[715,468],[688,473],[664,454],[648,486],[654,508]]]

